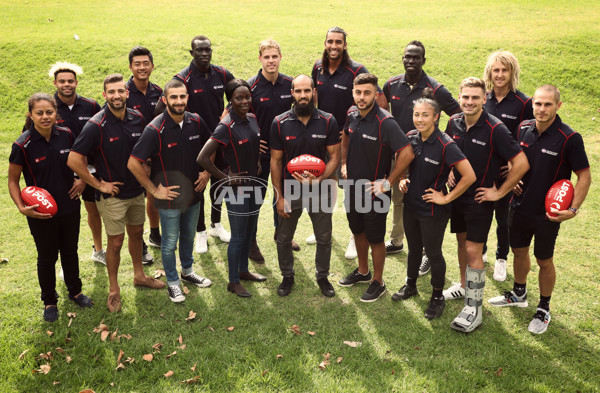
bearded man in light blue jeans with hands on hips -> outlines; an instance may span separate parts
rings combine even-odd
[[[210,177],[195,163],[195,158],[210,131],[200,116],[185,111],[188,94],[183,82],[168,82],[162,100],[167,110],[146,126],[131,151],[127,167],[155,198],[163,232],[161,256],[169,298],[179,303],[185,295],[175,259],[178,241],[181,279],[201,288],[211,284],[209,279],[194,273],[192,267],[199,201]],[[152,159],[152,180],[143,166],[148,159]]]

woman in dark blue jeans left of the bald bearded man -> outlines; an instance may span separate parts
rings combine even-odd
[[[260,129],[256,117],[248,113],[252,96],[243,79],[234,79],[225,86],[225,96],[231,104],[225,116],[198,155],[198,163],[220,181],[211,192],[222,195],[227,204],[231,240],[227,247],[229,284],[227,290],[240,297],[252,296],[240,280],[265,281],[260,274],[248,271],[250,243],[256,234],[261,201],[255,200],[253,181],[259,170]],[[229,166],[228,174],[221,172],[210,160],[215,153],[222,155]]]

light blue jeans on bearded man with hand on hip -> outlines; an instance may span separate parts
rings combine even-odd
[[[192,252],[194,251],[194,236],[200,214],[200,204],[196,203],[187,209],[158,209],[158,214],[162,232],[160,255],[167,276],[167,284],[179,285],[180,279],[175,259],[177,240],[179,240],[181,273],[187,275],[194,271]]]

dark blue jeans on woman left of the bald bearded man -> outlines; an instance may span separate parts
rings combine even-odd
[[[248,271],[248,254],[250,243],[256,237],[260,205],[252,197],[238,198],[236,201],[226,200],[226,203],[231,229],[231,240],[227,247],[229,282],[239,283],[240,272]]]

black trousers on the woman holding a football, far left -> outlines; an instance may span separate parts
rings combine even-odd
[[[33,236],[38,253],[37,273],[42,290],[41,299],[46,306],[55,305],[58,301],[54,269],[59,252],[69,295],[75,296],[81,292],[79,257],[77,256],[79,220],[80,209],[48,220],[27,217],[29,231]]]

